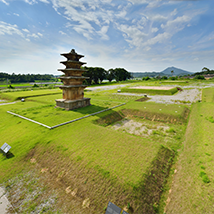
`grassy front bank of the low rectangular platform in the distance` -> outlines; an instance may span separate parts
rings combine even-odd
[[[121,92],[142,93],[142,94],[151,94],[151,95],[173,95],[176,92],[178,92],[178,89],[176,87],[170,90],[122,88]]]

